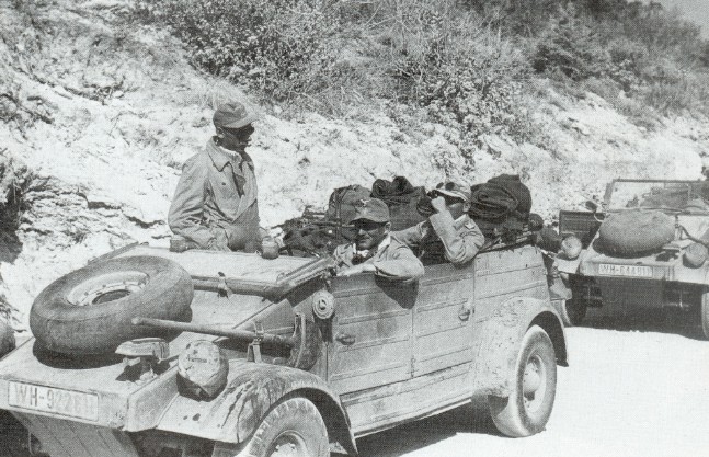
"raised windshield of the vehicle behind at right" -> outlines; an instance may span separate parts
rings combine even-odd
[[[709,214],[709,182],[614,181],[606,210],[628,208]]]

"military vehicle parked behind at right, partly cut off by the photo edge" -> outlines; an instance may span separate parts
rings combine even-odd
[[[556,260],[572,292],[559,309],[564,323],[588,307],[665,309],[709,339],[708,202],[704,181],[617,179],[602,208],[562,210],[560,233],[583,247]]]

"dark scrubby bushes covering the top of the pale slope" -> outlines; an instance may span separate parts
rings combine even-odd
[[[528,94],[539,78],[650,128],[709,111],[709,43],[652,2],[148,0],[139,13],[170,25],[196,66],[335,116],[394,101],[464,138],[538,142]]]

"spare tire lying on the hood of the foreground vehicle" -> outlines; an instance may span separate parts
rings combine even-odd
[[[127,256],[92,263],[49,284],[34,300],[30,328],[48,350],[104,354],[156,330],[133,325],[137,316],[183,320],[194,288],[178,263]]]

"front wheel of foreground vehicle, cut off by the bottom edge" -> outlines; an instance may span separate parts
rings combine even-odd
[[[288,399],[261,421],[237,457],[329,457],[328,430],[310,400]]]

